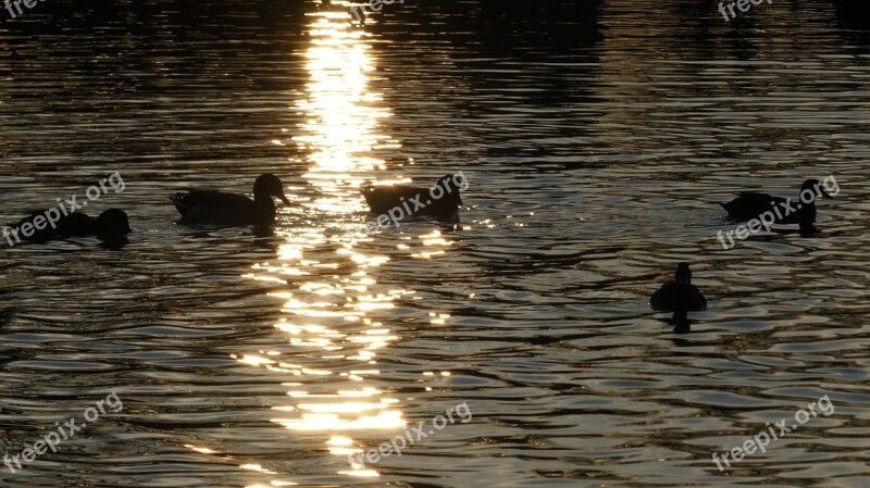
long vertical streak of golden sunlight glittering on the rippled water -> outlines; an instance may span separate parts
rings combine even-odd
[[[272,408],[272,422],[286,428],[289,443],[338,456],[339,475],[376,477],[376,471],[352,463],[348,454],[363,449],[355,436],[385,439],[406,427],[398,400],[372,378],[381,374],[377,351],[397,339],[376,317],[413,292],[378,288],[372,277],[371,271],[389,259],[359,249],[370,239],[359,218],[365,210],[359,188],[373,170],[384,167],[373,151],[398,145],[383,133],[382,121],[391,114],[371,88],[370,35],[351,25],[347,10],[318,11],[310,18],[303,53],[309,80],[290,107],[304,118],[286,130],[294,137],[273,143],[295,145],[306,155],[304,176],[315,195],[306,207],[322,218],[282,233],[275,261],[257,263],[248,275],[288,288],[269,293],[283,301],[284,316],[275,328],[286,337],[286,349],[250,351],[236,360],[278,375],[288,388],[286,403]]]

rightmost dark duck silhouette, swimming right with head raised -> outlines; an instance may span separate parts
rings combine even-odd
[[[818,193],[816,191],[818,190]],[[806,203],[800,199],[800,195],[809,191],[812,198]],[[775,224],[798,224],[801,230],[815,230],[813,223],[816,222],[816,197],[821,195],[824,198],[833,198],[828,191],[824,190],[822,184],[818,179],[807,179],[800,185],[800,193],[798,198],[790,201],[791,199],[782,197],[772,197],[767,193],[758,193],[754,191],[739,191],[737,198],[728,202],[719,203],[728,212],[729,216],[735,221],[749,221],[753,218],[760,218],[765,212],[770,212],[770,216]],[[770,222],[770,221],[768,221]]]

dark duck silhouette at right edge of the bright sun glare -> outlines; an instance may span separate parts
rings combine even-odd
[[[457,177],[464,183],[464,176],[457,173],[445,175],[431,188],[417,188],[410,185],[371,184],[362,187],[362,196],[372,213],[386,214],[393,209],[402,209],[403,216],[433,216],[447,220],[453,216],[462,204]],[[440,187],[439,190],[436,187]],[[435,191],[433,191],[435,190]],[[406,210],[410,211],[406,215]]]

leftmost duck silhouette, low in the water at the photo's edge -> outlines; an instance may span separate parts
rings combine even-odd
[[[53,210],[55,213],[60,213],[57,209]],[[8,236],[7,239],[10,240],[10,242],[12,242],[10,237],[14,237],[17,241],[24,239],[32,242],[45,242],[49,239],[71,236],[97,236],[101,239],[112,239],[126,236],[133,232],[133,229],[129,228],[127,214],[121,209],[109,209],[97,218],[82,212],[73,212],[61,216],[54,222],[54,225],[51,225],[46,218],[49,212],[49,210],[30,212],[30,215],[22,218],[17,223],[9,224],[9,227],[12,227],[13,230],[11,233],[3,232],[3,235]],[[37,217],[41,217],[41,220],[35,222]],[[33,232],[29,236],[26,236],[22,230],[22,226],[25,224],[30,224],[33,227]],[[36,224],[39,224],[44,228],[37,228]]]

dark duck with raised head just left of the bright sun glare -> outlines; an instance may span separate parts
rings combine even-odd
[[[171,199],[184,224],[272,225],[275,223],[272,197],[290,204],[281,179],[266,173],[253,183],[253,200],[239,193],[206,189],[188,189]]]

